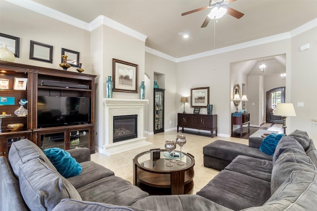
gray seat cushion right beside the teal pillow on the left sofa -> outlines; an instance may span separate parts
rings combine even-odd
[[[106,169],[105,167],[96,164],[93,161],[87,161],[80,163],[83,170],[82,172],[73,177],[67,178],[67,180],[76,188],[81,188],[89,183],[97,181],[107,176],[113,176],[113,171]],[[93,173],[92,173],[93,172]]]

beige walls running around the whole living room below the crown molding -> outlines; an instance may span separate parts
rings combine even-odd
[[[287,132],[294,129],[306,130],[310,137],[317,142],[317,125],[311,119],[317,119],[317,95],[316,79],[317,69],[317,27],[302,33],[291,39],[272,42],[253,47],[248,47],[231,52],[188,60],[184,62],[171,62],[150,53],[145,53],[145,43],[126,34],[115,31],[106,26],[100,26],[92,32],[76,28],[63,22],[51,19],[47,16],[34,14],[30,10],[16,6],[15,11],[5,10],[6,1],[0,7],[1,33],[20,37],[20,58],[15,62],[44,66],[59,69],[61,61],[61,48],[68,48],[80,52],[80,62],[83,63],[84,73],[96,74],[97,79],[97,127],[96,132],[103,131],[102,98],[105,96],[106,76],[112,75],[112,58],[121,59],[139,65],[139,84],[144,81],[144,74],[151,80],[150,87],[153,90],[154,73],[164,74],[166,89],[165,102],[165,128],[176,127],[178,112],[183,111],[183,105],[179,99],[182,96],[190,96],[191,87],[210,86],[210,104],[213,104],[213,113],[218,115],[218,133],[228,136],[230,134],[230,117],[234,108],[231,102],[232,88],[235,83],[245,83],[245,76],[232,75],[232,63],[246,61],[254,58],[262,58],[271,55],[286,54],[285,84],[287,87],[286,102],[292,102],[297,112],[296,117],[287,118]],[[31,17],[32,14],[32,18]],[[34,15],[36,18],[34,18]],[[40,20],[40,21],[39,21]],[[54,46],[53,64],[29,60],[30,40],[43,42]],[[310,48],[299,51],[302,44],[310,43]],[[71,67],[69,71],[75,71]],[[256,81],[260,87],[252,94],[259,99],[258,105],[253,106],[250,100],[247,104],[251,118],[257,117],[255,122],[261,123],[264,114],[261,112],[261,97],[265,89],[265,79]],[[253,82],[253,83],[256,83]],[[261,85],[262,83],[262,85]],[[251,94],[250,78],[246,81],[248,97]],[[115,98],[139,98],[139,94],[115,92]],[[146,96],[152,102],[153,96]],[[252,99],[252,96],[251,96]],[[298,107],[297,102],[304,102],[304,107]],[[152,108],[153,105],[149,105]],[[190,113],[190,103],[186,103],[186,112]],[[258,110],[258,111],[257,111]],[[153,131],[153,110],[149,109],[149,127]],[[202,113],[207,113],[202,109]],[[253,114],[254,113],[254,114]],[[102,117],[103,118],[103,117]],[[169,122],[172,121],[170,125]],[[103,135],[97,135],[96,145],[100,146]]]

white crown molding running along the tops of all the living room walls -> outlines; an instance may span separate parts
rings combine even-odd
[[[110,28],[113,28],[113,29],[119,31],[119,32],[127,34],[131,37],[134,37],[140,41],[145,42],[147,39],[146,35],[143,35],[137,31],[135,31],[129,27],[126,27],[123,24],[120,24],[120,23],[118,23],[110,18],[107,18],[106,16],[103,16],[103,15],[98,16],[96,19],[94,19],[90,23],[86,23],[84,21],[78,20],[74,17],[71,17],[71,16],[66,15],[64,13],[61,13],[61,12],[58,12],[50,7],[44,6],[42,4],[34,2],[32,0],[6,0],[6,1],[14,3],[18,6],[24,7],[26,9],[30,9],[34,12],[46,15],[46,16],[51,17],[53,19],[62,21],[64,23],[73,25],[75,27],[90,31],[90,32],[101,25],[106,25]],[[285,40],[285,39],[290,39],[292,37],[295,37],[299,34],[302,34],[302,33],[306,32],[310,29],[313,29],[315,27],[317,27],[317,18],[303,24],[302,26],[297,27],[296,29],[293,29],[290,32],[285,32],[285,33],[281,33],[278,35],[273,35],[273,36],[257,39],[254,41],[243,42],[243,43],[239,43],[239,44],[235,44],[235,45],[231,45],[231,46],[227,46],[227,47],[217,48],[214,50],[205,51],[205,52],[201,52],[201,53],[197,53],[197,54],[193,54],[193,55],[189,55],[189,56],[184,56],[184,57],[180,57],[180,58],[172,57],[170,55],[167,55],[165,53],[162,53],[158,50],[155,50],[155,49],[147,47],[147,46],[145,46],[145,51],[148,53],[154,54],[156,56],[159,56],[161,58],[164,58],[164,59],[167,59],[169,61],[177,63],[177,62],[183,62],[183,61],[188,61],[188,60],[192,60],[192,59],[198,59],[198,58],[202,58],[202,57],[206,57],[206,56],[216,55],[216,54],[220,54],[220,53],[230,52],[230,51],[234,51],[234,50],[239,50],[239,49],[252,47],[252,46],[256,46],[256,45],[261,45],[261,44],[265,44],[265,43],[269,43],[269,42],[276,42],[276,41],[281,41],[281,40]]]

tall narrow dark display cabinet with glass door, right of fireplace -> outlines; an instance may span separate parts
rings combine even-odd
[[[164,132],[164,91],[154,88],[154,133]]]

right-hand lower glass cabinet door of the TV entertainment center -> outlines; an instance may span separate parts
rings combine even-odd
[[[89,129],[70,131],[69,149],[87,147],[89,148]]]

